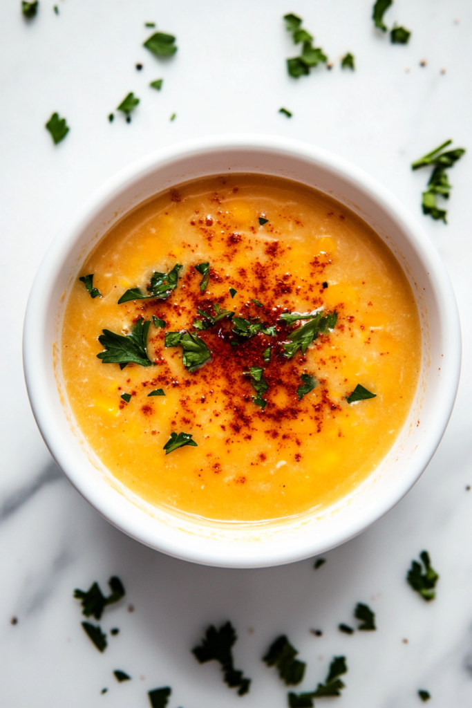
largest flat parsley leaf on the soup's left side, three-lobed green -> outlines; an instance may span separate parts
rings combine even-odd
[[[140,318],[126,336],[104,329],[98,341],[105,347],[104,352],[97,354],[104,364],[120,364],[124,369],[127,364],[152,366],[146,350],[147,333],[151,322]]]

